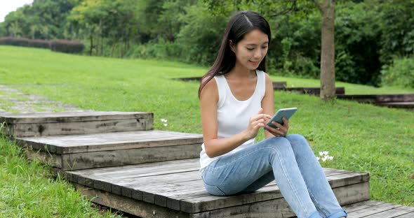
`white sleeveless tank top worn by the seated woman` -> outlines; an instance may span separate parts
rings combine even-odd
[[[255,92],[246,101],[239,101],[233,96],[224,75],[216,75],[214,77],[218,87],[218,138],[228,138],[247,129],[250,117],[259,112],[262,107],[263,96],[265,96],[266,78],[265,72],[263,71],[256,71],[256,75],[258,76],[258,80],[256,82]],[[254,142],[255,138],[252,138],[239,147],[236,147],[234,150],[213,158],[207,156],[206,148],[203,143],[203,145],[201,145],[202,150],[200,152],[200,171],[202,172],[203,168],[206,168],[206,166],[215,161],[215,159],[239,152],[249,145],[253,145]]]

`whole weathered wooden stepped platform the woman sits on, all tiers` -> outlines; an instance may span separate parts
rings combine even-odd
[[[153,131],[152,113],[3,116],[29,158],[52,165],[95,203],[140,217],[294,217],[275,182],[252,194],[209,195],[199,173],[202,136]],[[324,170],[349,217],[412,215],[413,208],[366,201],[368,173]]]

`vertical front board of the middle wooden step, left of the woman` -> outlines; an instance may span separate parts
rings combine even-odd
[[[199,144],[190,144],[166,147],[144,147],[131,150],[62,154],[62,169],[79,170],[107,166],[122,166],[126,164],[191,159],[199,157],[200,152],[201,147]]]

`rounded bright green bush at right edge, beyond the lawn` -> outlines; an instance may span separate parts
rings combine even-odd
[[[392,66],[382,67],[382,85],[414,88],[414,57],[394,59]]]

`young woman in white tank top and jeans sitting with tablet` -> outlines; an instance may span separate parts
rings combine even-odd
[[[272,180],[298,217],[346,217],[307,140],[287,135],[289,122],[267,126],[274,114],[265,71],[269,24],[258,13],[236,13],[218,57],[199,88],[203,124],[201,173],[209,194],[251,192]],[[254,143],[266,127],[266,139]]]

